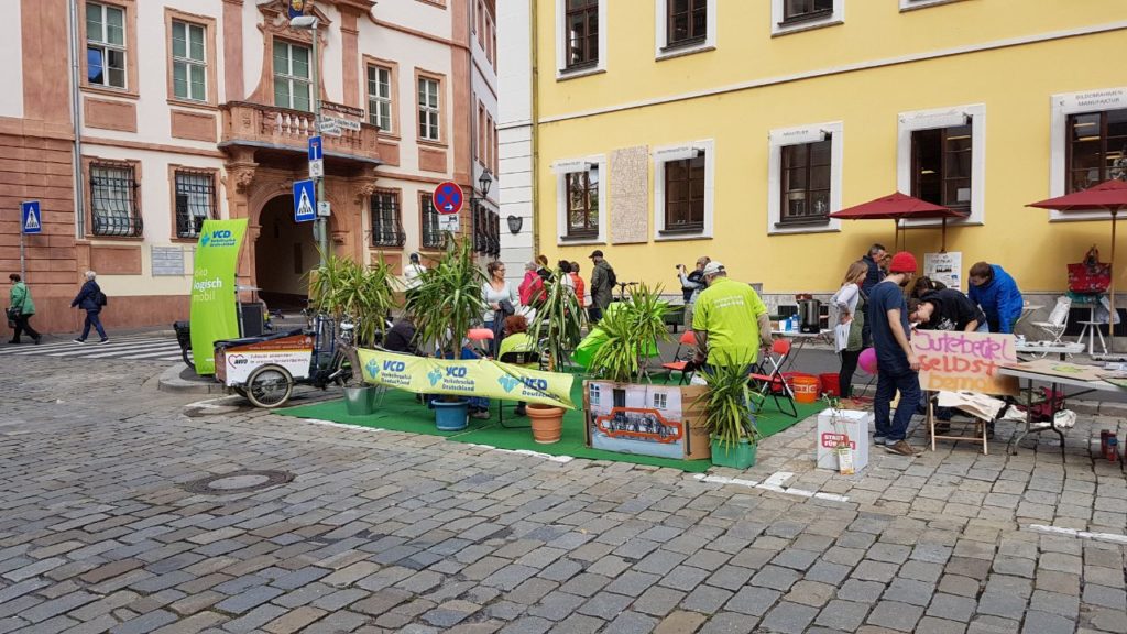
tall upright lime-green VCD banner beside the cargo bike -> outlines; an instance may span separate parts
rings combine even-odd
[[[197,375],[215,373],[214,344],[239,336],[236,271],[247,219],[205,220],[192,273],[192,355]]]

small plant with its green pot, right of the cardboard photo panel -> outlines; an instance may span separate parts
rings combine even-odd
[[[708,384],[700,400],[711,435],[712,464],[737,469],[754,466],[761,435],[752,415],[752,398],[757,395],[747,389],[747,366],[716,364],[701,376]]]

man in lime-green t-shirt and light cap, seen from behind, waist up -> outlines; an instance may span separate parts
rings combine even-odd
[[[696,298],[693,314],[693,361],[698,366],[755,363],[760,346],[771,345],[767,307],[749,284],[729,280],[719,262],[704,267],[704,283],[708,288]]]

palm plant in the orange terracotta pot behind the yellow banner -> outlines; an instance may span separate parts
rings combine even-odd
[[[532,341],[541,342],[540,351],[548,355],[548,369],[556,371],[583,337],[584,311],[575,289],[565,283],[567,274],[556,270],[544,289],[532,326]],[[532,437],[540,443],[559,442],[564,433],[564,408],[532,403],[527,406]]]

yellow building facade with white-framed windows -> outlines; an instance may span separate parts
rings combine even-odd
[[[1026,205],[1127,178],[1122,0],[530,1],[532,249],[585,276],[598,248],[676,292],[708,255],[769,297],[832,292],[894,224],[826,214],[897,190],[968,212],[964,280],[985,259],[1059,294],[1111,252],[1107,214]]]

